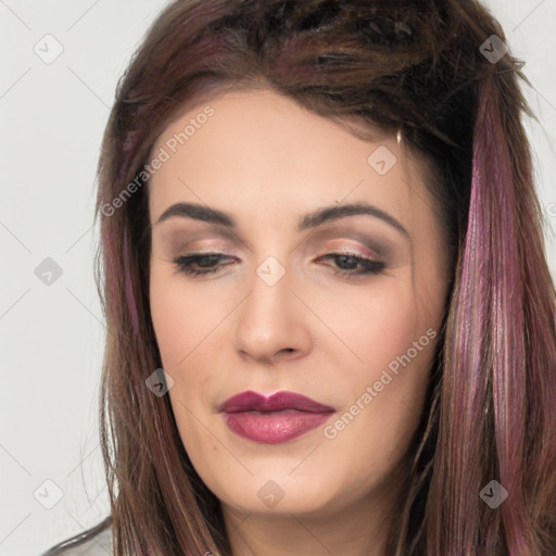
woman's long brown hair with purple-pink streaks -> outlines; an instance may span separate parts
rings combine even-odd
[[[161,13],[118,84],[98,168],[116,556],[231,554],[168,397],[146,388],[162,366],[146,165],[186,106],[265,87],[341,124],[401,130],[432,168],[453,280],[388,554],[556,554],[556,294],[522,126],[528,81],[505,42],[475,0],[177,0]],[[492,480],[507,491],[497,508],[480,497]]]

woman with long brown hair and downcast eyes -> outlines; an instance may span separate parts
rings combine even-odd
[[[520,68],[477,1],[160,15],[99,163],[112,515],[81,546],[556,553]]]

